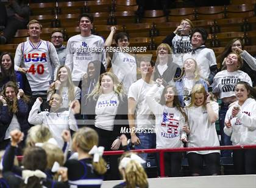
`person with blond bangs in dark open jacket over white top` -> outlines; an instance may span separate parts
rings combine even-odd
[[[172,50],[168,44],[162,43],[157,47],[157,62],[155,63],[154,81],[162,79],[163,85],[172,84],[173,79],[180,76],[179,65],[172,59]]]

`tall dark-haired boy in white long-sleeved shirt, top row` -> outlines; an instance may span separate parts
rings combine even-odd
[[[65,65],[72,72],[74,84],[78,86],[82,76],[87,73],[88,63],[98,60],[105,64],[104,41],[100,36],[92,35],[93,17],[86,13],[79,16],[81,33],[68,39]]]

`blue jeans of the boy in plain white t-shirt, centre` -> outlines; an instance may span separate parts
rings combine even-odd
[[[137,136],[140,139],[140,144],[135,145],[135,150],[155,148],[155,133],[138,133]],[[140,153],[140,156],[146,161],[148,153]]]

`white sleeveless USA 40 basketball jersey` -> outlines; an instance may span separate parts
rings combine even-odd
[[[21,67],[27,69],[27,79],[32,92],[48,90],[52,77],[49,57],[50,42],[41,40],[36,46],[31,41],[21,43],[23,61]]]

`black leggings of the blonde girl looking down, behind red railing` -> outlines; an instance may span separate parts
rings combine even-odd
[[[203,175],[203,165],[207,166],[207,175],[219,175],[220,163],[219,153],[208,153],[205,155],[198,153],[188,153],[188,164],[192,175]]]

